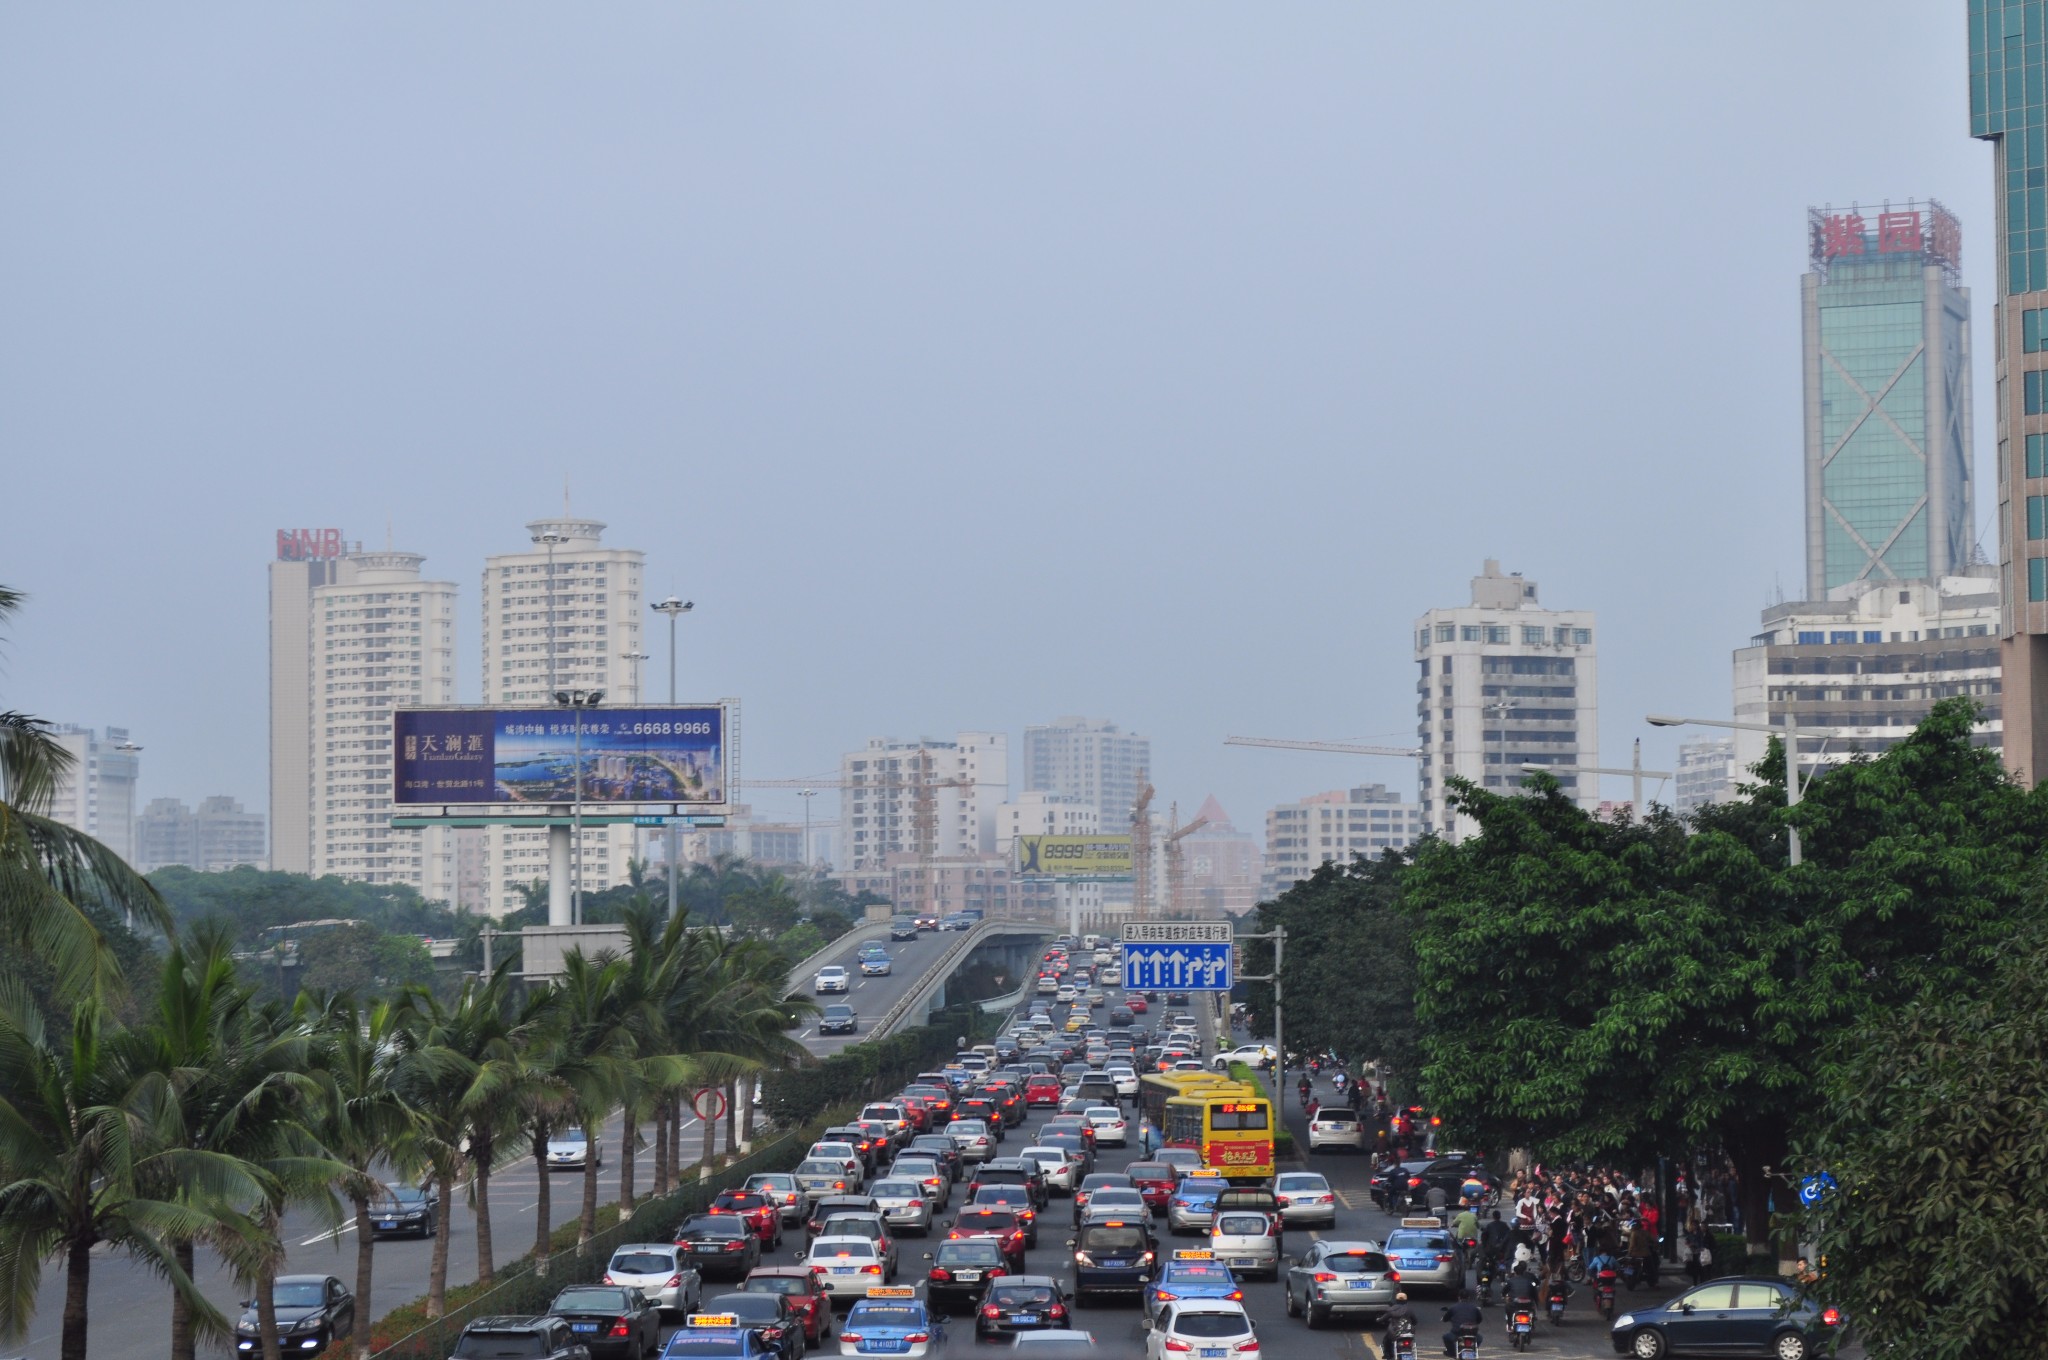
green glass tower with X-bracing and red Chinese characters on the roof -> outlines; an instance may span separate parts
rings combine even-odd
[[[1939,203],[1808,209],[1806,598],[1970,563],[1970,291]]]

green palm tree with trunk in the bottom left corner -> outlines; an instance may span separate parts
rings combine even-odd
[[[80,1002],[70,1032],[53,1034],[14,989],[0,993],[0,1335],[20,1335],[35,1313],[43,1262],[66,1262],[61,1360],[86,1360],[92,1247],[145,1260],[209,1331],[227,1319],[178,1264],[178,1239],[207,1235],[229,1204],[258,1204],[268,1174],[240,1157],[178,1147],[147,1116],[150,1075],[135,1045],[113,1043],[106,1008]],[[178,1184],[178,1198],[147,1192]]]

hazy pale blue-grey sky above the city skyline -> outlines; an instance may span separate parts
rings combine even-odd
[[[1808,205],[1962,217],[1991,471],[1964,80],[1962,0],[4,6],[0,707],[262,807],[274,530],[426,553],[475,698],[567,475],[754,776],[1090,713],[1182,815],[1413,789],[1221,741],[1413,741],[1485,557],[1665,764],[1802,586]]]

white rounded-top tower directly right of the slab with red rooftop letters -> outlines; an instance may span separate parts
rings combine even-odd
[[[391,825],[391,713],[455,703],[455,582],[424,580],[422,561],[358,549],[313,586],[307,873],[453,901],[449,832]]]

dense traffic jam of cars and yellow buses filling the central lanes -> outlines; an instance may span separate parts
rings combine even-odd
[[[676,1241],[618,1247],[604,1280],[565,1290],[553,1317],[481,1319],[457,1358],[1004,1344],[1147,1360],[1655,1360],[1690,1352],[1706,1305],[1720,1323],[1706,1354],[1802,1360],[1839,1321],[1798,1315],[1786,1290],[1769,1299],[1780,1323],[1745,1335],[1731,1282],[1636,1311],[1595,1288],[1524,1305],[1479,1245],[1499,1178],[1438,1149],[1421,1110],[1364,1135],[1372,1090],[1337,1071],[1303,1073],[1276,1104],[1231,1071],[1270,1067],[1272,1049],[1229,1047],[1210,995],[1120,979],[1114,942],[1057,940],[991,1043],[868,1102],[793,1172],[721,1194]],[[840,983],[834,971],[819,989]],[[1276,1137],[1288,1127],[1292,1145]],[[1411,1141],[1407,1161],[1376,1165],[1382,1131]]]

